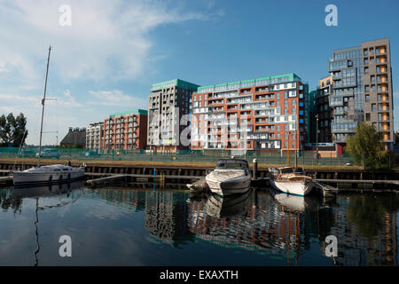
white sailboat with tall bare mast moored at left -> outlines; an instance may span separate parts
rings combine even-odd
[[[40,160],[42,156],[42,135],[43,135],[43,116],[44,103],[46,99],[47,78],[49,75],[51,46],[49,48],[49,57],[47,59],[46,79],[44,83],[44,94],[42,99],[42,123],[40,126],[39,153],[37,155],[37,167],[29,170],[16,170],[13,172],[14,185],[47,185],[71,182],[84,176],[82,168],[74,168],[65,165],[48,165],[41,166]]]

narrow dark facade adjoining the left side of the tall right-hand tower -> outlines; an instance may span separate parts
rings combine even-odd
[[[332,107],[329,100],[331,95],[332,76],[328,76],[321,79],[317,87],[318,138],[315,138],[315,142],[317,140],[318,143],[332,143]]]

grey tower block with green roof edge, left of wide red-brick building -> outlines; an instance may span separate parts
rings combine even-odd
[[[147,145],[152,149],[176,151],[188,149],[190,104],[192,93],[199,85],[180,79],[154,83],[148,98]],[[188,137],[189,138],[189,137]]]

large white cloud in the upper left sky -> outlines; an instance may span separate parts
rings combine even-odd
[[[67,2],[72,26],[61,27],[59,6],[65,2],[0,0],[0,68],[10,66],[24,77],[37,79],[36,64],[43,64],[44,48],[51,44],[51,68],[61,78],[133,79],[151,61],[153,43],[148,33],[153,28],[208,19],[201,13],[171,9],[164,2],[71,0]]]

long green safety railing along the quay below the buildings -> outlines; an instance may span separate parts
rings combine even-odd
[[[80,161],[141,161],[141,162],[217,162],[222,158],[246,159],[253,162],[256,158],[258,163],[293,165],[295,162],[295,153],[280,150],[257,150],[257,151],[231,151],[231,150],[180,150],[171,151],[150,151],[150,150],[124,150],[124,149],[70,149],[57,148],[53,150],[52,155],[46,155],[46,148],[43,149],[42,159],[51,160],[80,160]],[[35,158],[38,148],[31,147],[19,151],[19,148],[0,148],[0,158]],[[344,166],[352,164],[348,155],[334,157],[320,157],[316,159],[315,151],[298,151],[297,165],[326,165],[326,166]]]

